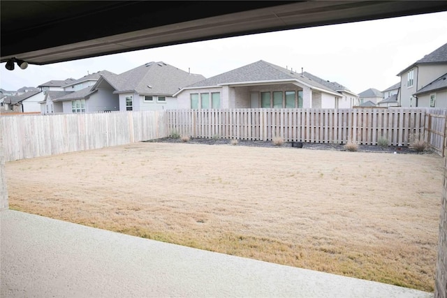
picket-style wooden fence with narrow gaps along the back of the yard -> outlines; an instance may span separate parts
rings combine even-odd
[[[191,137],[286,142],[406,145],[423,135],[424,109],[237,109],[168,110],[170,133]]]

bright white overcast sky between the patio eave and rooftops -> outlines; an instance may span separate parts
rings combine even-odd
[[[272,33],[172,45],[77,61],[29,65],[22,70],[0,66],[0,87],[17,90],[50,80],[79,79],[109,70],[124,73],[149,61],[205,77],[264,60],[339,82],[357,94],[381,91],[400,82],[397,73],[447,43],[447,12],[385,20],[293,29]]]

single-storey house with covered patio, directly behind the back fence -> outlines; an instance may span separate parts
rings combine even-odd
[[[311,76],[260,60],[191,84],[174,96],[180,109],[336,108],[350,103],[335,90],[356,96],[341,85],[327,87],[327,81]]]

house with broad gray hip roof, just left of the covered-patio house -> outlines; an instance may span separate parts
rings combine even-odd
[[[117,99],[120,111],[168,110],[177,109],[175,92],[204,79],[164,62],[149,62],[120,75],[103,75],[91,91]]]

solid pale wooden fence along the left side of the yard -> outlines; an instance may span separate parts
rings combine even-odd
[[[0,117],[5,161],[167,137],[165,111]]]

